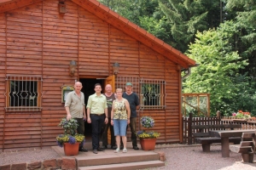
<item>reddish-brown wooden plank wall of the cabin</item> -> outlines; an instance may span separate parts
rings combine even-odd
[[[158,142],[179,142],[180,74],[176,65],[78,4],[66,1],[67,13],[58,12],[58,0],[45,0],[0,14],[0,149],[26,150],[55,145],[57,127],[66,116],[61,86],[79,77],[108,77],[119,62],[119,76],[166,80],[166,110],[141,111],[153,116]],[[69,75],[69,62],[79,67]],[[5,112],[7,74],[43,77],[42,111]]]

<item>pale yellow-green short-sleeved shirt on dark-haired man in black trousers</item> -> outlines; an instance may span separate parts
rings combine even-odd
[[[90,108],[90,114],[103,114],[108,108],[107,98],[103,94],[97,96],[92,94],[89,96],[86,108]]]

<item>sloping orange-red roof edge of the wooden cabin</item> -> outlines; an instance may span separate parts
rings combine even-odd
[[[43,0],[0,0],[0,13],[42,1]],[[104,6],[102,3],[99,3],[96,0],[71,1],[90,11],[92,14],[95,14],[100,19],[105,20],[110,25],[125,32],[127,35],[133,37],[138,42],[142,42],[149,48],[154,49],[154,51],[157,51],[167,59],[172,60],[172,62],[176,63],[177,65],[181,65],[183,68],[188,68],[191,65],[195,65],[195,60],[189,59],[188,56],[182,54],[177,49],[172,48],[172,46],[166,42],[163,42],[159,38],[154,37],[148,31],[143,30],[143,28],[135,25],[121,15],[113,12],[113,10]]]

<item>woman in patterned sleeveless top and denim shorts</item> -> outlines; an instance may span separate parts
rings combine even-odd
[[[117,142],[117,149],[115,153],[120,150],[120,137],[124,144],[123,152],[127,152],[126,144],[126,127],[130,123],[130,105],[127,99],[122,97],[122,88],[116,89],[117,99],[113,101],[112,111],[111,111],[111,124],[113,125],[114,136]]]

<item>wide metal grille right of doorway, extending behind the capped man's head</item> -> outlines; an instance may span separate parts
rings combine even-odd
[[[140,110],[157,110],[166,108],[166,81],[143,79],[139,77],[117,77],[116,88],[122,88],[125,92],[125,83],[132,83],[133,92],[140,99]]]

